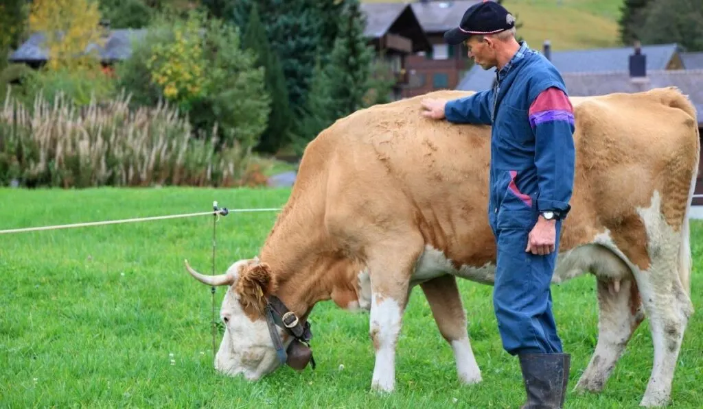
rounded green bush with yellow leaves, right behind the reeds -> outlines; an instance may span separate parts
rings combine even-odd
[[[174,100],[196,132],[209,133],[217,125],[221,142],[250,149],[270,112],[264,69],[256,67],[252,51],[241,49],[236,27],[195,11],[188,15],[186,21],[155,18],[146,39],[117,66],[117,86],[137,105]],[[186,47],[188,53],[181,50]]]

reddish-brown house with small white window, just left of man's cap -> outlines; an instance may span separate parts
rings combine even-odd
[[[466,9],[482,0],[418,0],[410,4],[432,43],[430,51],[409,55],[409,82],[403,90],[405,98],[441,88],[456,88],[473,60],[461,44],[450,46],[444,32],[456,27]]]

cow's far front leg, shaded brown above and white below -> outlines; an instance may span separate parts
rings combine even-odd
[[[449,274],[420,284],[437,321],[439,333],[449,342],[456,359],[459,380],[466,384],[481,382],[481,370],[471,349],[466,330],[466,313],[461,303],[456,278]]]

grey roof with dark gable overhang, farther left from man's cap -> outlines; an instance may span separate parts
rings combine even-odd
[[[379,39],[387,33],[398,34],[413,41],[413,52],[430,51],[432,44],[410,5],[404,3],[361,3],[366,15],[363,34]]]

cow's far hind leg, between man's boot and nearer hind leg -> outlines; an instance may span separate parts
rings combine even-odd
[[[597,281],[598,343],[577,391],[602,391],[630,337],[644,319],[640,293],[632,279],[616,286],[612,281]]]

